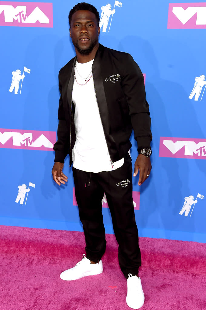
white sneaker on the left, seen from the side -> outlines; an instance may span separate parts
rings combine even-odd
[[[63,271],[60,274],[62,280],[71,281],[77,280],[86,276],[93,276],[100,274],[103,271],[102,260],[99,263],[91,264],[90,260],[83,254],[82,260],[76,264],[73,268]]]

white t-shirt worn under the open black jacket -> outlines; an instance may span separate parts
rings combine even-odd
[[[74,125],[77,138],[72,150],[72,161],[76,169],[97,173],[121,167],[124,158],[114,162],[112,168],[96,102],[93,76],[91,77],[92,63],[93,60],[84,64],[76,62],[72,101],[75,106]],[[78,83],[86,84],[81,86]]]

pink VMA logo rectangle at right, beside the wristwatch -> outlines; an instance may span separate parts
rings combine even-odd
[[[206,159],[206,139],[160,137],[159,157]]]

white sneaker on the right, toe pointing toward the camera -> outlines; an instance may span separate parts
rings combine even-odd
[[[145,301],[145,295],[142,290],[140,277],[132,276],[128,274],[127,279],[127,305],[132,309],[139,309],[143,306]]]

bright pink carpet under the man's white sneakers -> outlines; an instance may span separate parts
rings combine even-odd
[[[82,259],[82,232],[0,226],[1,310],[129,310],[117,243],[107,235],[103,273],[59,275]],[[140,238],[142,310],[206,309],[206,245]]]

